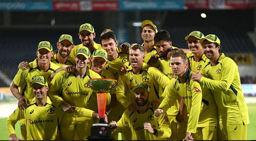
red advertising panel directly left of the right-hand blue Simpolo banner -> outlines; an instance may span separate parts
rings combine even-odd
[[[92,1],[92,10],[118,10],[117,1]]]

